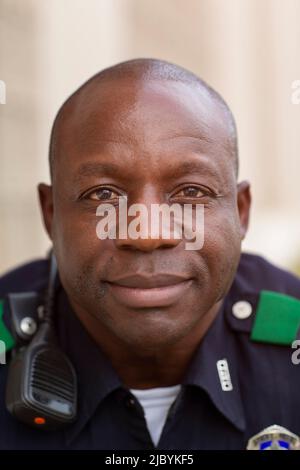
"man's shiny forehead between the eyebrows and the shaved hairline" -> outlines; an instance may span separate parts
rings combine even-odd
[[[66,166],[76,171],[105,152],[120,165],[124,158],[119,155],[125,154],[131,157],[126,165],[130,160],[136,165],[143,156],[163,165],[171,154],[187,151],[228,159],[225,112],[205,89],[181,82],[92,83],[67,104],[58,127],[60,171]]]

